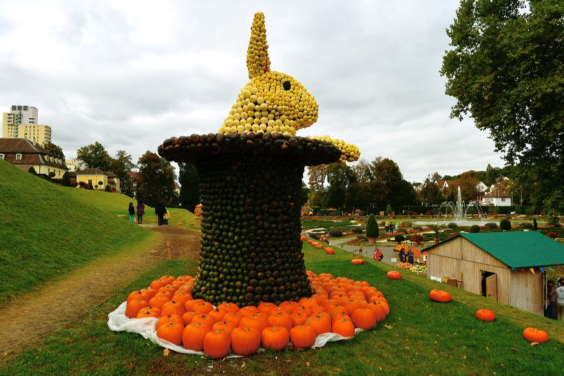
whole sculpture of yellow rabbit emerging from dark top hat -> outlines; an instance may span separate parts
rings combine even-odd
[[[353,162],[360,154],[343,140],[295,135],[317,121],[318,105],[295,78],[270,69],[261,12],[251,26],[247,68],[250,81],[218,133],[171,137],[158,146],[167,160],[198,168],[202,236],[193,296],[213,305],[279,305],[311,295],[297,205],[304,168]]]

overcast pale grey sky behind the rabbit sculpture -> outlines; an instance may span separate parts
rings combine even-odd
[[[271,69],[320,106],[298,135],[393,159],[409,181],[503,166],[488,133],[450,119],[439,76],[454,0],[0,0],[0,112],[39,109],[67,159],[101,142],[134,161],[173,135],[218,131],[247,83],[254,12]]]

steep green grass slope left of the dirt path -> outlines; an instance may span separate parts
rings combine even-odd
[[[147,239],[112,212],[125,195],[54,184],[0,161],[0,303]]]

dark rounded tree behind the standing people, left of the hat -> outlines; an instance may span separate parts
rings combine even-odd
[[[138,161],[139,176],[137,178],[136,198],[145,201],[149,206],[162,200],[167,206],[176,206],[174,167],[167,159],[146,151]]]

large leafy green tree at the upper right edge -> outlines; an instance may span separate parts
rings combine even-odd
[[[462,0],[441,69],[451,117],[470,115],[516,175],[550,186],[531,193],[553,211],[564,197],[554,184],[564,181],[563,20],[561,0]]]

